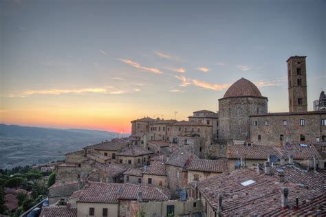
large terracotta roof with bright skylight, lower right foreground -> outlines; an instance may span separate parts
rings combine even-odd
[[[279,173],[271,170],[270,175],[258,174],[254,169],[241,169],[229,173],[222,173],[204,181],[192,183],[197,185],[208,203],[217,209],[218,197],[223,196],[221,216],[270,216],[281,210],[281,187],[289,187],[289,207],[294,207],[296,197],[299,198],[299,207],[306,200],[323,195],[325,192],[325,177],[314,171],[301,171],[295,166],[283,167],[285,182],[279,183]],[[254,183],[241,185],[252,180]],[[284,209],[284,212],[289,209]],[[276,214],[279,216],[279,214]]]

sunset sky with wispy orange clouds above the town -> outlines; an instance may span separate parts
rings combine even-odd
[[[288,111],[307,56],[308,110],[326,90],[326,1],[0,3],[0,122],[129,133],[144,116],[218,110],[246,78]]]

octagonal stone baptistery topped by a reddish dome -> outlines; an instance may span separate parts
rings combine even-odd
[[[219,99],[219,139],[246,140],[250,137],[250,115],[268,112],[268,98],[249,80],[241,78]]]

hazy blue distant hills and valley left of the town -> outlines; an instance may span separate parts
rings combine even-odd
[[[39,128],[0,124],[0,168],[65,159],[65,153],[128,135],[100,130]]]

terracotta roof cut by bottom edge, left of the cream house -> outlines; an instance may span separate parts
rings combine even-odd
[[[77,208],[67,208],[66,206],[42,207],[40,217],[77,217]]]

